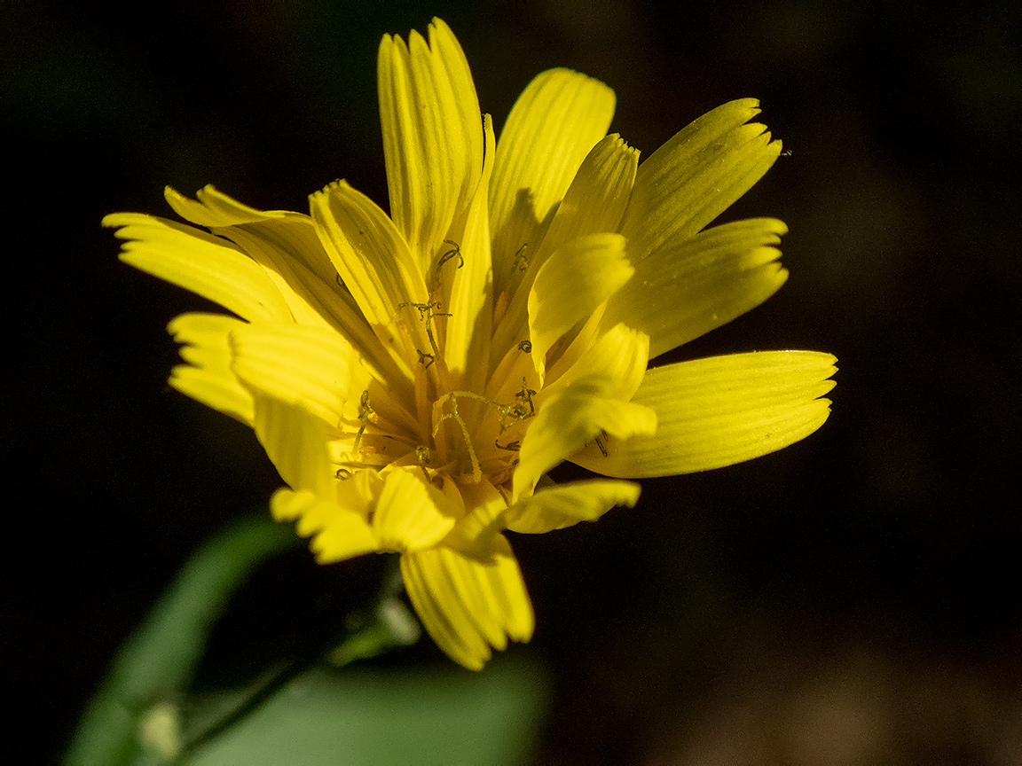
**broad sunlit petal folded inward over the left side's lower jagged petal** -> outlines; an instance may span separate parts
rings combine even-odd
[[[231,369],[246,386],[328,425],[340,421],[358,357],[333,330],[259,322],[237,328],[230,342]]]

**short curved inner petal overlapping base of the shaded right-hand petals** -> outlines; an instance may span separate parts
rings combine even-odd
[[[541,376],[554,342],[593,314],[633,274],[619,234],[591,234],[551,254],[528,295],[532,362]]]

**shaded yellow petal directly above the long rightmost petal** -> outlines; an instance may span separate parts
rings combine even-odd
[[[607,301],[603,326],[639,328],[657,356],[731,322],[788,278],[777,262],[787,231],[777,219],[736,221],[656,250],[635,264],[635,278]]]

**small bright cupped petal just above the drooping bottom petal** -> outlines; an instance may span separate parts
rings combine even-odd
[[[391,471],[373,509],[373,532],[384,550],[419,550],[439,542],[454,526],[444,516],[422,478]]]

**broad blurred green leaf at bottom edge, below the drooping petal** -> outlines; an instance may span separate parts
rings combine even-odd
[[[549,684],[522,653],[455,667],[316,668],[188,760],[189,766],[521,764]]]

